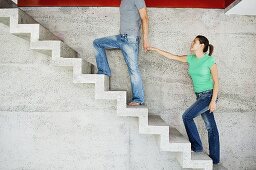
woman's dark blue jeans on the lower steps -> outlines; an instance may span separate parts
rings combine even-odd
[[[182,118],[191,142],[191,149],[195,152],[201,152],[203,151],[203,146],[193,119],[198,115],[202,116],[208,131],[209,156],[212,158],[213,163],[217,164],[220,161],[219,132],[214,115],[208,109],[212,93],[212,90],[196,93],[197,101],[185,111]]]

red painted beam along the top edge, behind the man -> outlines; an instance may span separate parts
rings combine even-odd
[[[159,8],[225,8],[234,0],[145,0],[148,7]],[[20,7],[94,6],[118,7],[121,0],[19,0]]]

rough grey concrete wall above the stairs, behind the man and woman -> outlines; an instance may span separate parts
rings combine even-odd
[[[92,41],[118,34],[118,8],[23,8],[60,36],[79,55],[95,63]],[[256,167],[256,17],[227,16],[224,10],[149,9],[153,46],[186,54],[193,38],[206,35],[215,46],[220,94],[216,120],[220,129],[221,160],[228,169]],[[111,89],[128,90],[127,67],[118,50],[108,51]],[[195,100],[187,66],[141,51],[140,68],[146,105],[185,134],[181,115]],[[204,145],[203,122],[197,119]]]

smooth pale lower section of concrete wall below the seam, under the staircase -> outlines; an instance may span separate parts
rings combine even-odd
[[[0,112],[0,169],[181,169],[114,109]],[[14,149],[15,148],[15,149]]]

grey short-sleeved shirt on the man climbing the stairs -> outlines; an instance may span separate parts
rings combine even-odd
[[[144,0],[121,0],[120,34],[140,36],[141,18],[139,10],[145,7]]]

